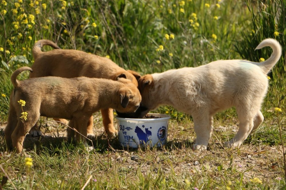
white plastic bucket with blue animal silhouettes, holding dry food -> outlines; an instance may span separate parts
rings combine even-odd
[[[147,114],[159,118],[133,119],[119,118],[118,139],[123,147],[138,148],[138,146],[157,146],[166,143],[168,136],[168,121],[166,114]]]

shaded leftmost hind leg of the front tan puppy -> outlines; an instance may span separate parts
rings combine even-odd
[[[7,126],[5,128],[5,131],[4,131],[5,140],[6,140],[6,144],[7,144],[8,149],[13,149],[11,135],[12,135],[13,131],[15,130],[17,123],[18,123],[17,114],[15,112],[14,107],[10,104],[8,122],[7,122]]]

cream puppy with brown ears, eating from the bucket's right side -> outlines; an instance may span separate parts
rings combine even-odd
[[[263,40],[256,49],[273,49],[264,62],[219,60],[195,68],[180,68],[142,76],[139,90],[144,116],[160,105],[171,105],[190,114],[194,121],[196,142],[193,149],[206,149],[212,133],[212,116],[235,107],[239,130],[225,143],[239,147],[247,136],[263,122],[260,111],[267,92],[267,73],[281,56],[281,47],[274,39]],[[145,108],[144,108],[145,107]]]

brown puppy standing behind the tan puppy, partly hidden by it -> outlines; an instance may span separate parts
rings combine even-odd
[[[54,50],[42,52],[41,47],[49,45]],[[138,86],[140,74],[131,70],[124,70],[112,60],[93,54],[88,54],[79,50],[63,50],[49,40],[39,40],[33,47],[33,57],[35,63],[32,66],[33,73],[30,78],[42,76],[60,76],[74,78],[86,76],[90,78],[108,78],[118,80],[126,78]],[[113,126],[113,110],[110,108],[101,109],[104,129],[108,136],[114,136],[116,130]],[[59,119],[56,119],[59,120]],[[65,122],[64,120],[59,120]],[[88,137],[93,138],[92,132],[93,117],[88,122]],[[33,130],[31,130],[32,132]],[[33,133],[33,132],[32,132]]]

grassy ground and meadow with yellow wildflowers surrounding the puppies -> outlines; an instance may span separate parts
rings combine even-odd
[[[40,39],[52,40],[64,49],[108,55],[119,66],[141,74],[199,66],[219,59],[267,59],[270,48],[254,49],[269,37],[279,41],[283,52],[270,74],[261,109],[265,121],[239,149],[222,147],[237,131],[234,108],[215,115],[214,132],[205,152],[192,151],[192,118],[170,106],[154,111],[172,117],[168,142],[154,149],[126,150],[117,139],[108,141],[99,113],[94,119],[96,140],[92,152],[65,142],[65,126],[48,123],[46,127],[43,119],[44,138],[25,140],[26,153],[33,159],[31,169],[25,165],[24,155],[5,152],[3,131],[0,132],[0,165],[7,174],[0,176],[3,189],[14,189],[13,185],[17,189],[80,189],[90,175],[86,189],[285,188],[278,130],[279,122],[285,143],[284,0],[186,0],[184,5],[175,0],[74,0],[67,1],[66,6],[61,0],[42,0],[33,1],[33,5],[23,1],[16,13],[13,9],[17,2],[11,0],[5,5],[0,0],[0,124],[4,127],[12,90],[11,73],[33,64],[31,48]],[[29,15],[34,15],[34,19]],[[174,34],[174,39],[167,40],[165,34]],[[159,45],[164,46],[163,51],[156,51]],[[26,78],[28,72],[18,77]],[[282,112],[274,112],[275,107]],[[131,159],[134,155],[138,161]],[[5,183],[5,176],[12,182]],[[253,181],[255,177],[261,183]]]

